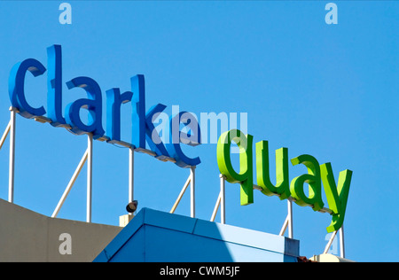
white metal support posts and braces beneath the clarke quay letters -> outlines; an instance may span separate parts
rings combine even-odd
[[[14,169],[15,169],[15,132],[16,132],[16,113],[18,113],[18,109],[15,107],[10,107],[10,121],[7,125],[7,127],[4,130],[4,134],[0,139],[0,149],[3,147],[4,141],[7,138],[8,135],[10,135],[10,160],[9,160],[9,184],[8,184],[8,201],[10,203],[13,203],[14,200]],[[35,118],[35,121],[39,122],[50,122],[50,119],[47,119],[45,117],[37,117]],[[68,128],[66,126],[65,128]],[[84,164],[87,162],[87,200],[86,200],[86,222],[91,222],[91,190],[92,190],[92,154],[93,154],[93,136],[92,134],[87,134],[88,136],[88,147],[87,150],[84,152],[81,161],[79,162],[78,166],[76,167],[74,171],[74,175],[72,175],[69,183],[66,185],[66,190],[62,194],[62,197],[59,199],[59,203],[54,209],[54,212],[51,214],[52,218],[57,217],[59,214],[60,208],[63,206],[67,195],[69,194],[69,191],[71,191],[72,187],[74,186],[74,182],[76,181],[76,178],[82,171],[82,167]],[[101,139],[99,139],[101,140]],[[105,140],[105,139],[104,139]],[[132,202],[134,200],[134,152],[135,149],[132,147],[131,144],[124,143],[120,141],[118,144],[121,144],[122,146],[125,146],[126,148],[129,148],[129,202]],[[140,151],[137,152],[145,152],[147,154],[150,154],[154,156],[154,153],[151,151],[144,151],[143,149],[140,149]],[[162,161],[173,161],[173,159],[160,159]],[[222,224],[226,223],[226,217],[225,217],[225,181],[226,178],[224,175],[219,175],[220,176],[220,192],[219,196],[216,200],[215,208],[212,213],[212,216],[210,218],[211,222],[215,222],[215,216],[218,212],[218,208],[221,208],[221,214],[220,214],[220,221]],[[180,200],[183,198],[184,192],[187,190],[188,186],[190,184],[190,216],[192,218],[195,217],[195,167],[190,167],[190,175],[187,178],[186,182],[184,183],[184,187],[182,191],[180,191],[178,197],[176,198],[175,204],[172,206],[172,209],[170,210],[170,213],[173,214],[175,213],[176,207],[180,203]],[[255,190],[261,190],[261,188],[257,185],[254,185]],[[329,209],[324,208],[325,212],[328,213]],[[286,229],[288,228],[288,237],[293,238],[293,198],[288,198],[287,199],[287,215],[286,215],[286,220],[283,223],[283,227],[281,228],[279,232],[279,236],[284,236],[286,233]],[[335,230],[332,232],[332,236],[330,237],[330,240],[328,241],[327,245],[325,246],[325,251],[323,253],[327,253],[328,250],[330,249],[332,245],[333,239],[336,237],[337,232],[339,231],[340,234],[340,257],[345,258],[345,246],[344,246],[344,233],[343,233],[343,226],[339,230]]]

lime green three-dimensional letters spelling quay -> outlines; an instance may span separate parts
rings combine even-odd
[[[231,164],[231,141],[239,146],[239,172]],[[247,205],[254,203],[254,174],[253,174],[253,136],[243,134],[239,129],[224,132],[217,143],[217,164],[222,175],[229,183],[239,183],[240,203]],[[280,148],[276,151],[276,184],[270,182],[269,148],[267,141],[260,141],[255,145],[256,156],[256,189],[260,189],[267,196],[278,196],[281,200],[293,198],[299,206],[311,206],[314,211],[332,214],[332,222],[327,227],[328,232],[340,229],[347,208],[349,186],[352,171],[346,169],[340,172],[338,185],[335,183],[330,162],[319,165],[317,159],[309,154],[302,154],[291,159],[293,166],[303,164],[308,168],[308,174],[293,178],[291,184],[288,179],[288,149]],[[324,186],[329,209],[325,209],[322,200],[321,186]],[[304,191],[304,184],[309,184],[308,195]]]

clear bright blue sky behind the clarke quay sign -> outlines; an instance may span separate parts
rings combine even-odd
[[[338,24],[325,23],[327,1],[69,1],[72,24],[59,23],[61,1],[0,3],[0,129],[9,121],[12,66],[61,44],[64,105],[84,92],[65,82],[85,75],[105,91],[130,89],[145,74],[146,107],[158,103],[200,113],[247,113],[254,143],[268,140],[290,159],[309,153],[332,162],[336,180],[353,170],[345,218],[346,256],[354,261],[398,261],[399,4],[335,1]],[[32,105],[46,105],[46,75],[27,79]],[[105,103],[104,103],[104,106]],[[129,106],[128,106],[129,107]],[[129,108],[122,136],[129,138]],[[104,126],[106,124],[104,123]],[[128,140],[128,139],[127,139]],[[17,116],[15,203],[51,215],[87,146],[74,136]],[[200,156],[196,214],[209,220],[219,192],[216,145],[187,148]],[[135,153],[139,209],[169,211],[189,170]],[[127,149],[95,141],[92,222],[117,225],[128,199]],[[290,167],[290,180],[306,173]],[[0,198],[8,193],[8,140],[0,151]],[[226,184],[226,222],[278,234],[286,201],[255,191],[239,206],[239,185]],[[189,194],[176,214],[190,214]],[[326,203],[326,200],[325,200]],[[85,221],[83,168],[59,212]],[[301,255],[322,253],[328,214],[293,205],[293,237]],[[216,222],[219,221],[219,216]]]

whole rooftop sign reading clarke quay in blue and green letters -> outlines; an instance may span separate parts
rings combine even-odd
[[[102,90],[98,82],[87,76],[78,76],[66,82],[67,89],[83,89],[87,98],[74,100],[64,108],[62,105],[61,46],[52,45],[47,48],[47,58],[47,68],[35,58],[27,58],[12,67],[9,77],[9,95],[12,107],[15,109],[12,111],[13,118],[15,118],[15,111],[17,111],[24,118],[49,122],[53,127],[67,128],[77,135],[88,134],[90,139],[123,144],[131,148],[130,150],[134,149],[137,152],[149,153],[160,160],[175,162],[179,167],[194,168],[200,164],[199,157],[190,158],[184,154],[181,148],[181,144],[195,146],[201,143],[200,125],[195,115],[188,112],[175,112],[173,116],[168,116],[169,129],[167,134],[169,134],[169,141],[162,142],[160,134],[154,128],[153,121],[157,115],[163,113],[167,106],[157,104],[145,111],[145,78],[143,74],[137,74],[130,78],[131,90],[129,91],[121,92],[119,88],[106,90],[105,130],[102,124],[104,111]],[[35,108],[29,104],[25,95],[26,74],[29,72],[37,77],[43,75],[46,71],[48,71],[46,109],[43,105]],[[131,143],[121,141],[121,105],[127,103],[130,103],[132,108]],[[88,120],[82,120],[82,109],[88,111]],[[181,124],[184,126],[182,127]],[[231,164],[231,142],[239,146],[239,172],[234,170]],[[147,145],[150,149],[146,148]],[[257,184],[254,184],[254,152]],[[338,184],[336,184],[331,163],[319,165],[317,159],[313,156],[302,154],[291,159],[291,163],[293,166],[303,164],[308,168],[308,173],[293,178],[290,183],[288,149],[280,148],[276,151],[277,182],[274,184],[270,180],[268,142],[260,141],[256,143],[254,152],[253,136],[245,135],[239,129],[224,132],[217,143],[219,170],[229,183],[241,185],[241,205],[254,203],[255,188],[267,196],[278,196],[281,200],[290,199],[299,206],[310,206],[314,211],[332,214],[332,222],[327,227],[328,232],[341,228],[348,202],[352,171],[348,169],[341,171]],[[13,171],[10,174],[13,174]],[[10,177],[12,178],[13,175]],[[193,175],[190,178],[193,181]],[[10,186],[13,185],[12,180],[10,179]],[[307,193],[304,191],[305,183],[309,184]],[[329,208],[324,207],[322,183]],[[10,187],[10,190],[12,190],[12,187]],[[9,200],[12,201],[12,199]],[[88,203],[88,209],[89,205],[90,203]]]

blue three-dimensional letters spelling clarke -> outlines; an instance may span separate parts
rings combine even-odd
[[[93,139],[108,143],[121,142],[121,105],[130,103],[132,107],[131,143],[128,146],[137,152],[147,152],[160,160],[170,160],[179,167],[194,167],[200,158],[190,158],[184,154],[180,144],[192,146],[200,144],[200,126],[192,113],[179,112],[169,119],[169,136],[172,141],[162,143],[153,120],[165,110],[166,105],[153,105],[145,112],[145,78],[137,74],[130,79],[131,91],[121,93],[119,88],[106,90],[106,131],[102,125],[102,93],[96,81],[86,76],[76,77],[66,82],[67,89],[81,88],[87,98],[80,98],[66,105],[62,114],[62,54],[60,45],[47,48],[47,69],[34,59],[27,58],[12,67],[9,77],[9,95],[12,107],[27,119],[47,120],[53,127],[68,128],[77,135],[92,134]],[[37,77],[47,73],[47,110],[43,106],[32,107],[25,96],[25,76],[27,72]],[[81,109],[88,110],[88,120],[82,121]],[[47,113],[47,117],[44,114]],[[180,130],[181,123],[184,124]],[[195,132],[194,134],[192,132]],[[125,142],[123,142],[125,143]],[[146,149],[146,144],[150,150]]]

